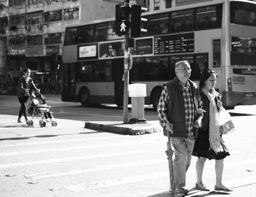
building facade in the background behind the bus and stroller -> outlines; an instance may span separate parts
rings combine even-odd
[[[131,0],[148,10],[211,0]],[[20,72],[32,70],[42,93],[61,91],[61,44],[65,27],[115,16],[124,0],[0,0],[0,40],[7,58],[1,69],[1,89],[15,92]],[[4,61],[3,61],[4,62]],[[4,80],[2,80],[4,81]],[[4,86],[4,88],[3,88]],[[0,89],[0,92],[1,92]]]

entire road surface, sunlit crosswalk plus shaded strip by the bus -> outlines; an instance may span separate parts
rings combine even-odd
[[[48,101],[58,126],[27,127],[16,123],[16,97],[0,96],[0,120],[4,123],[0,123],[1,197],[170,196],[167,139],[162,133],[125,136],[89,130],[83,128],[83,119],[122,120],[122,110],[83,108],[50,96]],[[252,109],[238,108],[241,112]],[[157,120],[156,112],[146,109],[146,118]],[[206,162],[203,173],[204,183],[211,191],[195,190],[197,158],[192,157],[187,171],[189,197],[255,196],[256,116],[236,114],[233,121],[236,131],[223,136],[230,150],[225,159],[223,184],[233,192],[213,190],[214,161]]]

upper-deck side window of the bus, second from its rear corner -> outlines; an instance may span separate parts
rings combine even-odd
[[[170,24],[171,32],[191,31],[194,26],[194,9],[172,12]]]

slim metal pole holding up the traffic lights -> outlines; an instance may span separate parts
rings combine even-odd
[[[124,123],[128,123],[128,85],[129,85],[129,35],[125,36],[124,45]]]

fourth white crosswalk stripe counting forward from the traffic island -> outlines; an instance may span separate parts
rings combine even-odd
[[[105,170],[111,170],[111,169],[124,169],[124,168],[129,168],[129,167],[136,167],[136,166],[146,166],[146,165],[153,165],[153,164],[157,164],[157,163],[166,163],[166,159],[158,158],[158,159],[145,160],[145,161],[118,163],[118,164],[113,164],[113,165],[108,165],[108,166],[97,166],[95,168],[90,168],[90,169],[77,169],[77,170],[73,170],[73,171],[27,174],[24,176],[29,179],[44,179],[44,178],[61,177],[61,176],[67,176],[67,175],[73,175],[73,174],[83,174],[83,173],[89,173],[89,172],[94,172],[94,171],[105,171]]]

